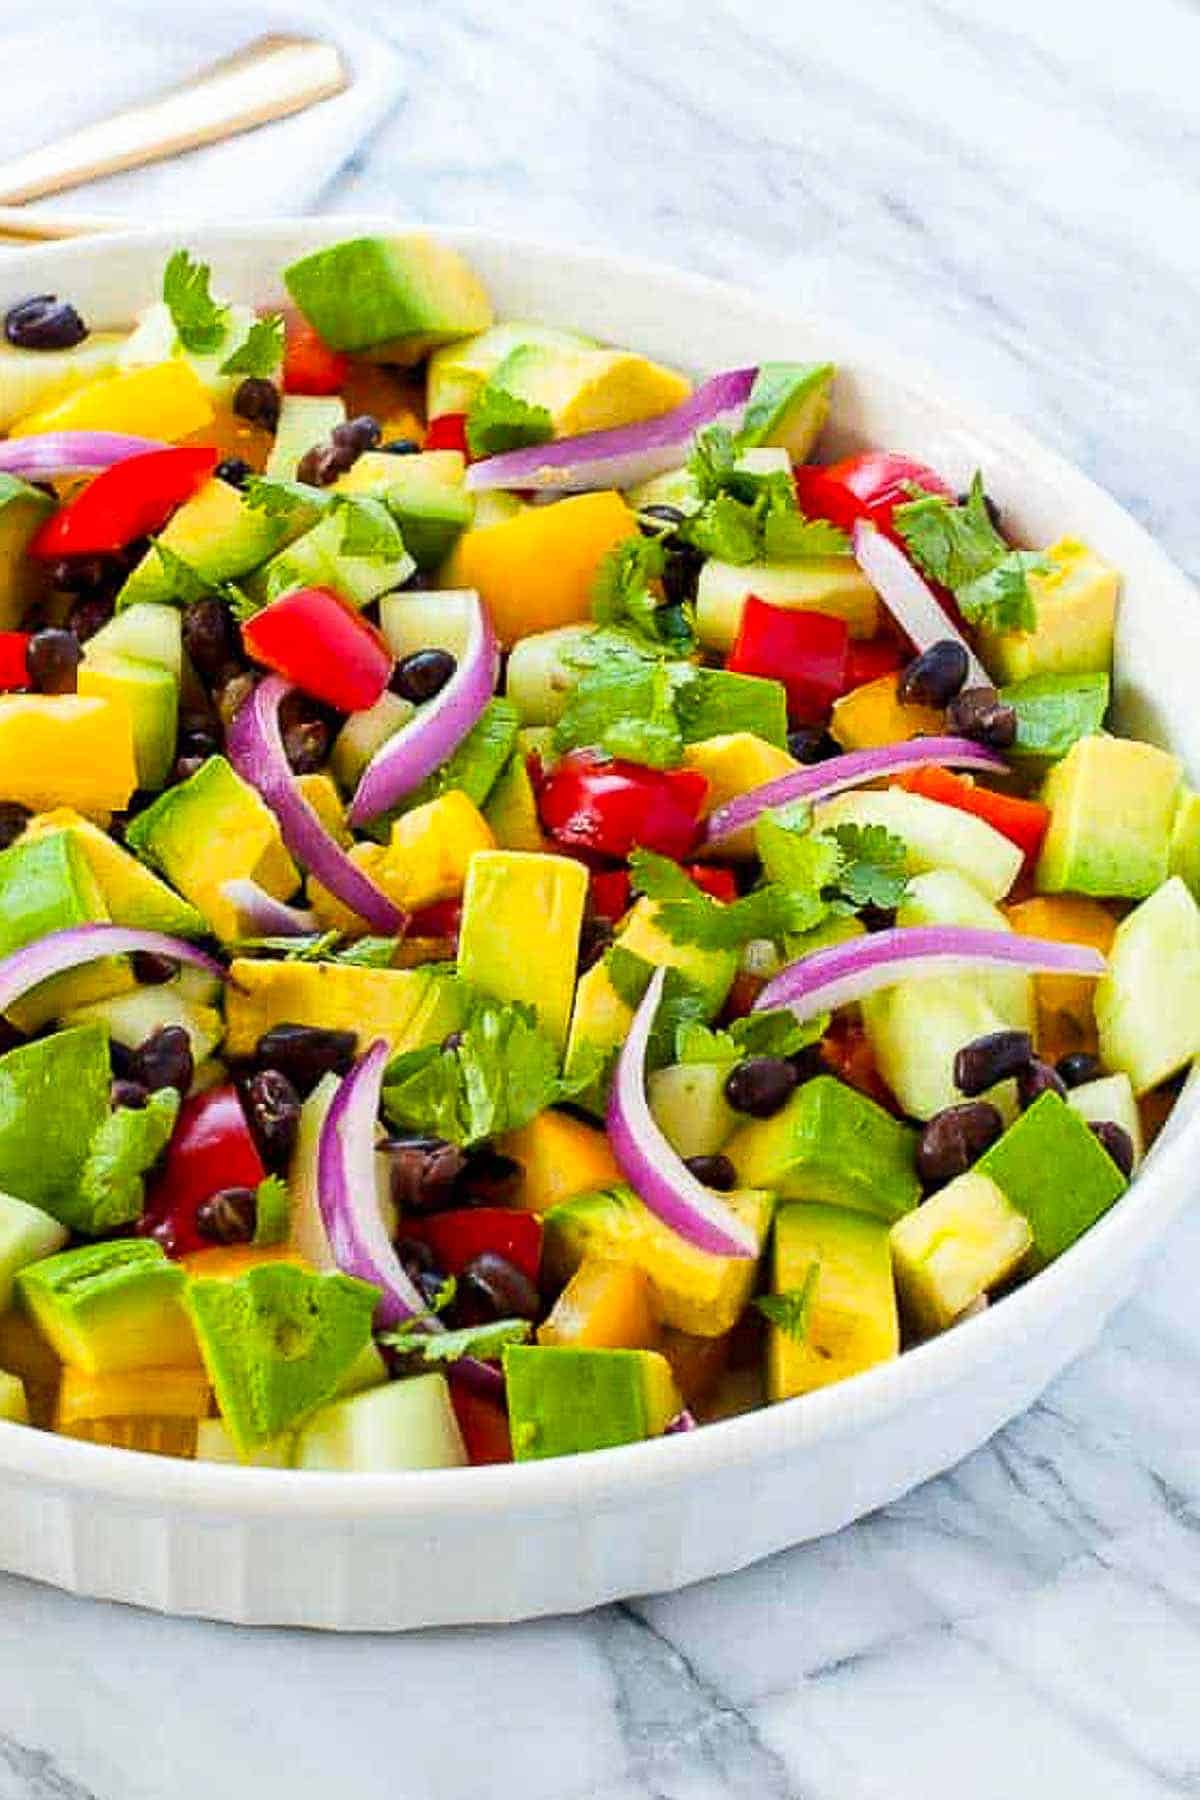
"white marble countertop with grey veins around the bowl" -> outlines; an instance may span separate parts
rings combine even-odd
[[[401,52],[396,104],[309,200],[849,313],[1018,414],[1200,574],[1187,0],[360,0],[354,20]],[[954,1474],[581,1620],[336,1640],[0,1580],[0,1800],[1196,1795],[1198,1287],[1200,1210],[1097,1348]]]

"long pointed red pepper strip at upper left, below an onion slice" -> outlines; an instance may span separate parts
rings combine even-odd
[[[29,554],[43,562],[106,556],[160,531],[175,508],[212,473],[218,454],[212,445],[178,445],[113,463],[47,518]]]

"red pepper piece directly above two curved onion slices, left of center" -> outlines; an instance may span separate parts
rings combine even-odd
[[[374,706],[392,677],[383,634],[327,587],[300,587],[241,628],[255,662],[340,713]]]

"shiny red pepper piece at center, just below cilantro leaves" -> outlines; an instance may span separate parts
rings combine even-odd
[[[682,860],[709,792],[696,769],[642,769],[599,751],[570,751],[542,783],[542,823],[560,844],[628,857],[639,844]]]

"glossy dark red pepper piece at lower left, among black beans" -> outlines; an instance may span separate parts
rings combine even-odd
[[[158,1238],[167,1256],[210,1249],[196,1213],[221,1188],[257,1188],[266,1175],[232,1082],[207,1087],[180,1107],[162,1174],[146,1195],[139,1235]]]

